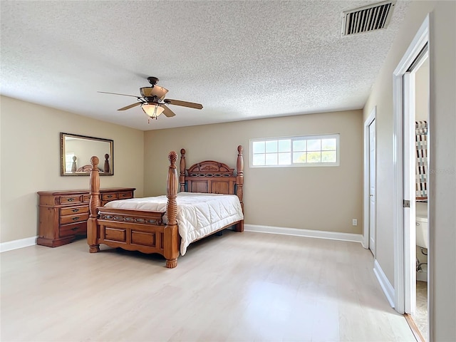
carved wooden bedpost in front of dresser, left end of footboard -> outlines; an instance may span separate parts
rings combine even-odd
[[[89,210],[90,215],[87,220],[87,243],[89,245],[89,252],[100,252],[100,244],[98,244],[98,229],[97,217],[98,209],[100,207],[100,170],[98,170],[98,157],[91,157],[90,164],[92,170],[90,171],[90,202]]]

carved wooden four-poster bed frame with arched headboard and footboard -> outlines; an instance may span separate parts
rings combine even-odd
[[[177,154],[170,152],[167,175],[167,224],[163,223],[164,212],[128,210],[100,207],[100,176],[98,157],[90,158],[90,216],[87,222],[89,252],[100,251],[100,244],[109,247],[158,253],[166,259],[166,266],[177,266],[180,251],[180,235],[177,227],[177,189],[189,192],[234,194],[244,211],[243,184],[244,161],[242,146],[238,147],[237,175],[234,169],[220,162],[204,161],[185,170],[185,150],[181,150],[180,177],[177,177]],[[188,175],[186,174],[188,172]],[[244,220],[235,222],[237,232],[244,231]]]

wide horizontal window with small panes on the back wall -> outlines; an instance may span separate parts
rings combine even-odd
[[[250,140],[250,167],[338,166],[339,135]]]

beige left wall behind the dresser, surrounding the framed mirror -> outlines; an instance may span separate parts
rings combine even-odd
[[[88,189],[88,176],[60,175],[61,132],[114,140],[114,175],[100,177],[101,187],[142,196],[142,131],[2,96],[0,242],[38,234],[36,192]]]

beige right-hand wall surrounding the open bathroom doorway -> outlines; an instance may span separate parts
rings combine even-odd
[[[456,341],[456,2],[412,1],[364,108],[377,105],[377,259],[394,284],[393,71],[430,19],[430,341]],[[380,186],[381,185],[381,186]]]

